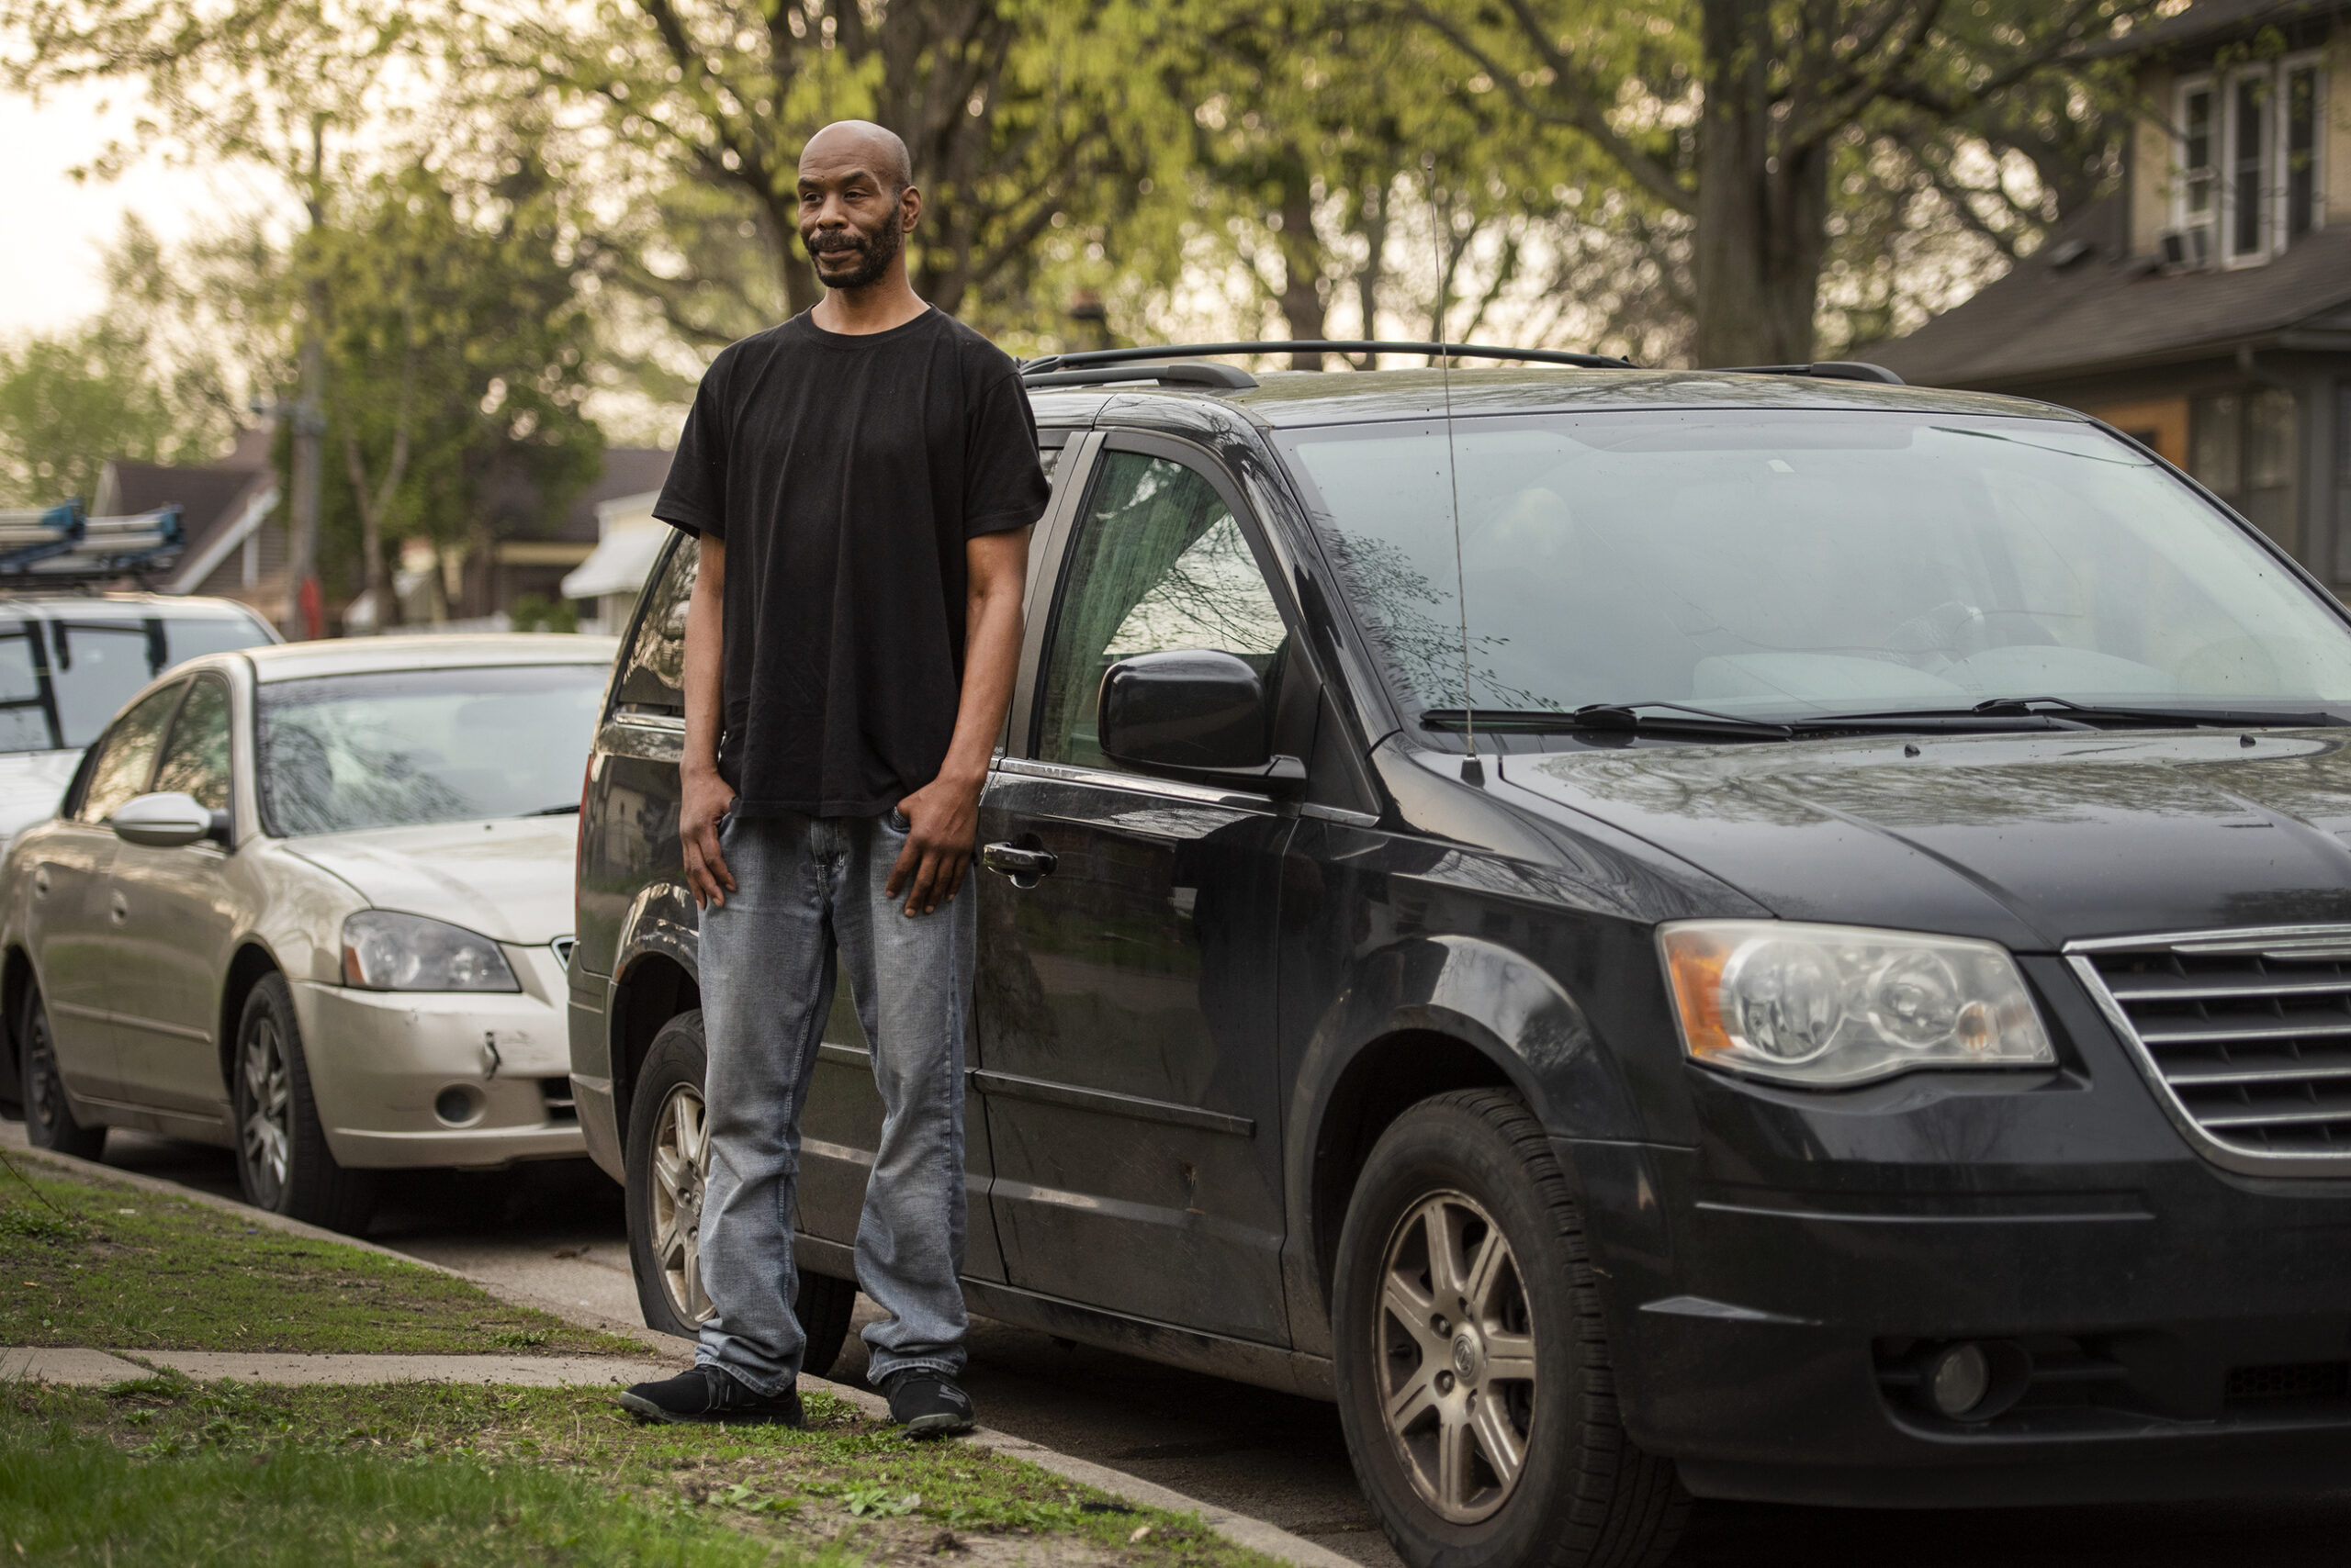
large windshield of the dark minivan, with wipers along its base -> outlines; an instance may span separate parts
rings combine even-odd
[[[2342,618],[2095,425],[1693,409],[1460,418],[1451,451],[1436,421],[1284,447],[1425,710],[2351,703]]]

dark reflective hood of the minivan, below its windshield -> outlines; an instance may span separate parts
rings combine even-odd
[[[1502,759],[1787,919],[2020,950],[2351,922],[2346,731],[1871,736]],[[1916,752],[1916,755],[1911,755]]]

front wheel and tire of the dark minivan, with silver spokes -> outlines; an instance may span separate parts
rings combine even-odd
[[[1646,1568],[1688,1495],[1625,1436],[1582,1215],[1495,1088],[1373,1147],[1333,1281],[1340,1425],[1411,1568]]]

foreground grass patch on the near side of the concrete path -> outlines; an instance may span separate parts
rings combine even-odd
[[[1272,1568],[839,1399],[809,1429],[647,1427],[600,1389],[0,1389],[0,1552],[139,1563]],[[78,1556],[68,1556],[68,1547]]]

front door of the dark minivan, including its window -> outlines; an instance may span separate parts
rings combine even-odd
[[[1225,649],[1279,689],[1288,628],[1204,456],[1100,454],[980,809],[980,1070],[1013,1286],[1286,1340],[1274,961],[1295,818],[1145,778],[1096,738],[1119,658]],[[1143,449],[1150,444],[1150,449]],[[1218,477],[1211,477],[1218,475]]]

